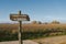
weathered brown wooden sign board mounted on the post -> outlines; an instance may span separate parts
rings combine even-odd
[[[28,14],[10,14],[10,20],[12,21],[30,21],[30,18]]]

